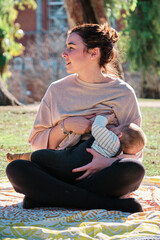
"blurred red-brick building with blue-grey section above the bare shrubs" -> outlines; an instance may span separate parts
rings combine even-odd
[[[19,11],[17,22],[25,32],[22,40],[26,45],[29,39],[37,38],[44,32],[64,32],[68,29],[63,0],[36,0],[37,9]]]

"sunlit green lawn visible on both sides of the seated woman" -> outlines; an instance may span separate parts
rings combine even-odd
[[[143,163],[146,175],[160,175],[160,100],[152,101],[152,107],[140,106],[143,118],[143,130],[147,136]],[[154,103],[159,106],[154,107]],[[7,152],[18,153],[31,151],[28,136],[37,112],[37,106],[0,107],[0,178],[5,176]],[[159,143],[159,144],[158,144]]]

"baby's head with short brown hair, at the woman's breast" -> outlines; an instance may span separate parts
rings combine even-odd
[[[119,130],[118,136],[123,153],[136,154],[144,148],[147,139],[143,130],[136,124],[130,123],[120,126]]]

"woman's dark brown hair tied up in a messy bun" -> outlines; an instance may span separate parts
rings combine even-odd
[[[68,35],[71,33],[76,33],[82,38],[86,51],[96,47],[100,49],[99,66],[105,70],[107,70],[107,64],[117,59],[114,44],[118,41],[119,36],[116,30],[108,27],[107,24],[78,25],[69,30]]]

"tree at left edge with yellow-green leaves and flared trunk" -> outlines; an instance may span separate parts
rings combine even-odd
[[[23,37],[20,25],[15,22],[18,9],[36,8],[34,0],[0,1],[0,105],[20,105],[20,102],[5,88],[2,78],[9,60],[23,51],[23,46],[16,40]]]

